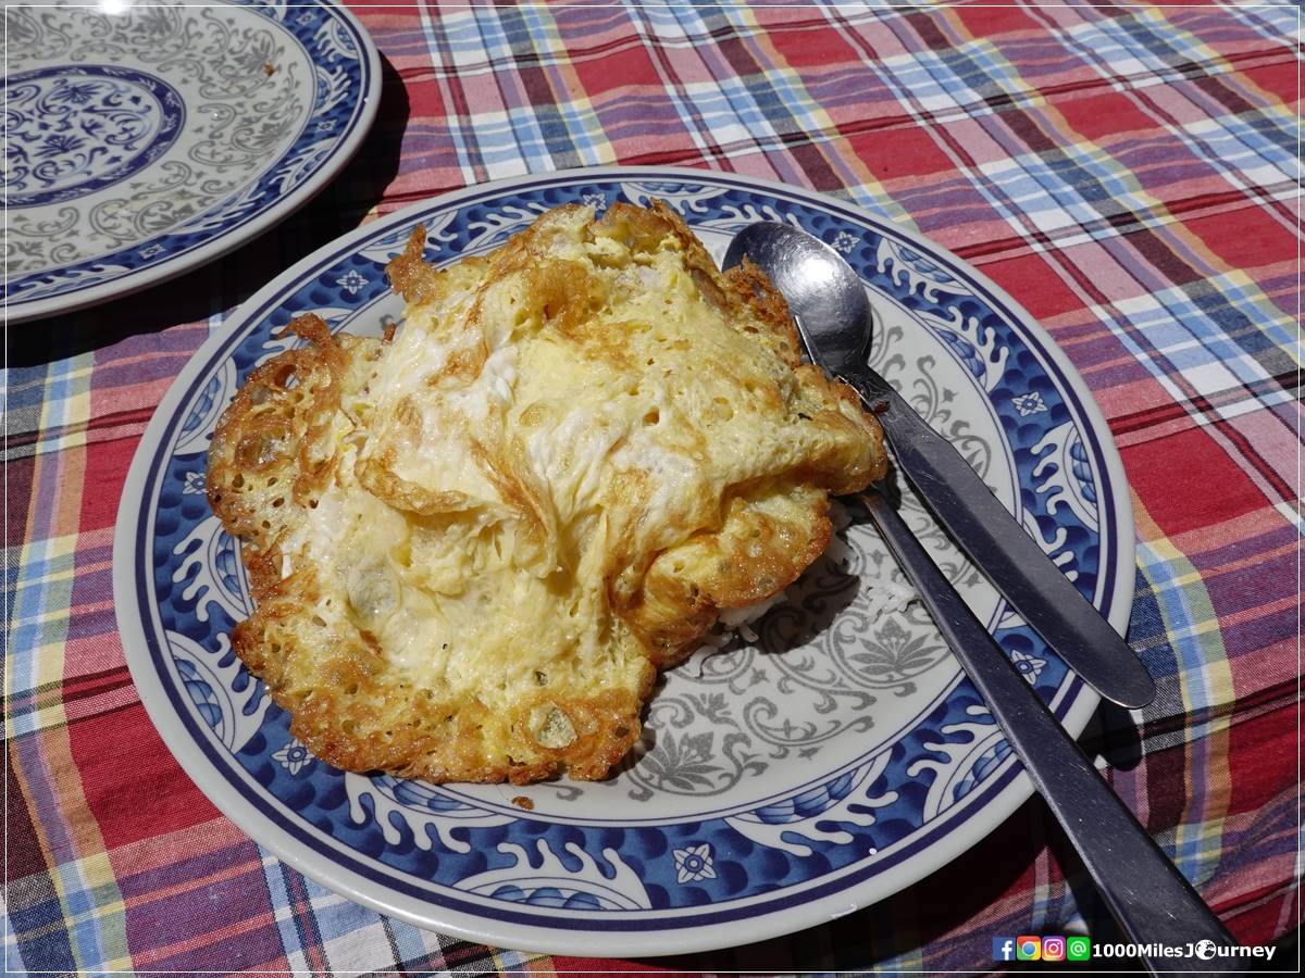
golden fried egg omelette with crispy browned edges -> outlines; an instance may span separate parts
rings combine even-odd
[[[397,335],[298,319],[219,422],[234,645],[338,767],[604,777],[656,669],[797,578],[882,434],[660,203],[557,207],[445,269],[423,244],[388,269]]]

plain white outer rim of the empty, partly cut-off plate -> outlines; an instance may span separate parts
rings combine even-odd
[[[209,5],[248,9],[253,10],[257,16],[265,16],[262,10],[266,7],[256,0],[209,0]],[[358,154],[358,150],[361,149],[363,141],[371,133],[376,123],[376,116],[380,112],[381,52],[367,27],[363,26],[363,22],[345,4],[335,3],[335,0],[303,0],[298,5],[320,7],[330,10],[358,35],[360,42],[359,61],[364,67],[367,85],[359,96],[360,111],[352,130],[313,167],[313,171],[303,183],[290,193],[279,196],[275,202],[249,220],[241,222],[234,228],[224,230],[187,252],[164,257],[162,261],[147,265],[144,269],[133,269],[121,275],[86,286],[85,288],[74,288],[68,292],[59,292],[26,301],[21,297],[12,299],[7,296],[4,299],[4,321],[7,326],[63,316],[114,299],[125,299],[129,295],[163,284],[188,271],[194,271],[230,254],[253,239],[265,235],[273,227],[299,211],[339,176],[341,171],[348,166],[350,160]],[[273,160],[273,166],[282,159],[284,159],[284,154]],[[260,171],[254,181],[261,180],[268,172],[268,168]],[[151,240],[145,239],[130,246],[144,248]],[[87,261],[94,261],[94,258]],[[57,269],[52,271],[57,271]]]

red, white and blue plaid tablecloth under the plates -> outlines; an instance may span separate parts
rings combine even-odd
[[[1295,931],[1295,7],[354,9],[386,61],[384,103],[322,197],[180,282],[9,331],[9,970],[970,970],[992,966],[993,935],[1112,934],[1032,801],[934,876],[791,938],[642,964],[482,948],[269,857],[159,741],[124,665],[111,542],[170,379],[243,297],[359,222],[603,163],[728,170],[853,201],[954,249],[1041,319],[1124,455],[1130,640],[1160,687],[1142,712],[1103,713],[1090,743],[1238,938]],[[1297,955],[1287,947],[1284,964]]]

